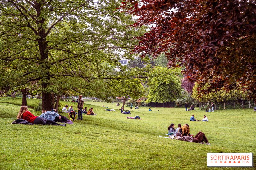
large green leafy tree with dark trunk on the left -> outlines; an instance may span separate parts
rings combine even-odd
[[[97,88],[105,86],[103,80],[116,78],[111,67],[120,67],[119,79],[125,77],[118,60],[132,59],[130,50],[138,42],[133,37],[145,33],[145,27],[127,27],[135,20],[115,9],[120,4],[114,0],[2,0],[0,68],[20,75],[12,77],[18,78],[15,86],[38,81],[44,110],[51,110],[51,94],[61,81],[68,89],[107,98],[104,89]]]

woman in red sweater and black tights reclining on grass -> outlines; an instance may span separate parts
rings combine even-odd
[[[28,111],[28,107],[27,106],[21,106],[19,114],[17,116],[17,119],[25,119],[27,120],[29,123],[33,123],[33,124],[50,124],[50,125],[57,125],[57,126],[63,126],[61,124],[58,124],[52,120],[48,120],[42,117],[38,117],[38,116],[34,116],[31,114],[30,111]]]

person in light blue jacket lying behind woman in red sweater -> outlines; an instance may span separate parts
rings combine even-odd
[[[71,120],[68,120],[68,118],[56,113],[56,112],[52,112],[52,111],[45,111],[42,110],[42,114],[39,116],[48,120],[52,120],[54,122],[65,122],[68,124],[73,124],[73,122]]]

